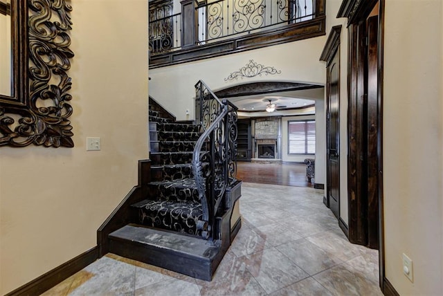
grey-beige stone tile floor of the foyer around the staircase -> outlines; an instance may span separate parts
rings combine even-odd
[[[347,241],[323,190],[243,183],[240,211],[213,281],[109,254],[44,295],[383,295],[377,250]]]

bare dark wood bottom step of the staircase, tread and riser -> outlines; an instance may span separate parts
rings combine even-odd
[[[204,239],[133,224],[109,234],[109,252],[206,281],[224,255]]]

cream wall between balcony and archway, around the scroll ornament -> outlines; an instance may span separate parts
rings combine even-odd
[[[177,116],[178,120],[186,120],[194,119],[194,86],[199,80],[203,80],[213,91],[260,81],[325,84],[325,66],[318,61],[325,38],[316,37],[192,63],[154,68],[150,70],[150,95]],[[264,66],[273,66],[281,73],[224,80],[230,73],[248,64],[250,59]],[[190,110],[190,115],[186,115],[186,110]]]

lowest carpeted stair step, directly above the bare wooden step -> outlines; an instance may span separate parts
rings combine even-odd
[[[200,203],[145,199],[131,207],[138,210],[138,223],[141,225],[201,235],[201,230],[197,230],[197,222],[203,217]]]

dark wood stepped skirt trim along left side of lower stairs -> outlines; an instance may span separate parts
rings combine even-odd
[[[138,160],[138,185],[123,198],[105,222],[97,230],[98,257],[109,252],[108,236],[111,232],[122,228],[129,223],[135,223],[137,217],[133,215],[130,205],[142,201],[147,196],[147,183],[150,182],[151,160]]]

